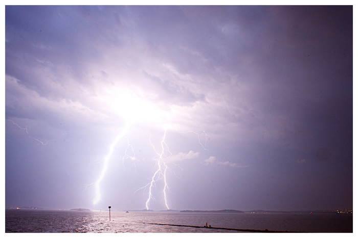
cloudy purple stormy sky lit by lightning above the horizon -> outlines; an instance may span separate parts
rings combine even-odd
[[[6,6],[6,206],[352,208],[352,19]]]

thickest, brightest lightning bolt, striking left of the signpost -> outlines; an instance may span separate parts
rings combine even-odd
[[[93,200],[93,204],[97,204],[100,200],[101,200],[101,191],[100,191],[100,183],[102,181],[102,179],[104,178],[104,175],[107,171],[107,167],[108,167],[108,162],[110,157],[113,154],[114,148],[117,145],[117,143],[119,142],[119,140],[123,137],[125,137],[125,135],[127,134],[128,130],[129,130],[130,125],[127,124],[121,131],[121,133],[116,137],[116,139],[112,142],[112,144],[110,144],[109,146],[109,150],[107,155],[103,158],[103,168],[101,171],[100,176],[98,177],[97,181],[95,182],[95,188],[96,188],[96,197]]]

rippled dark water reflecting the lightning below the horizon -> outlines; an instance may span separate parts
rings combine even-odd
[[[5,210],[5,232],[228,233],[236,230],[353,232],[352,214],[221,214],[71,210]],[[157,224],[202,226],[185,227]]]

